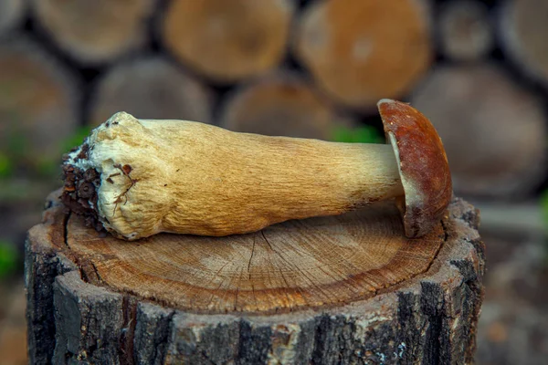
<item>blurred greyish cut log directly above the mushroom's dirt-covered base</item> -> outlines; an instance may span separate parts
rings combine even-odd
[[[90,125],[118,111],[142,119],[211,121],[213,94],[163,57],[121,63],[100,78],[92,96]]]

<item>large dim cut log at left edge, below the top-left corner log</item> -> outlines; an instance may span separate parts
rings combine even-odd
[[[10,38],[0,41],[0,151],[17,163],[60,162],[79,126],[79,83],[24,36]]]

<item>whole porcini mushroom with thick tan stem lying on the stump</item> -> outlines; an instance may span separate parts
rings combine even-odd
[[[135,240],[243,234],[395,198],[406,235],[425,235],[451,197],[445,151],[417,110],[389,99],[378,108],[390,145],[267,137],[120,112],[65,156],[62,200],[88,224]]]

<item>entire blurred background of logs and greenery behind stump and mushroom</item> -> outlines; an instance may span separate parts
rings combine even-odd
[[[548,363],[548,1],[0,0],[0,364],[26,363],[26,230],[111,114],[383,142],[382,98],[481,210],[478,363]]]

